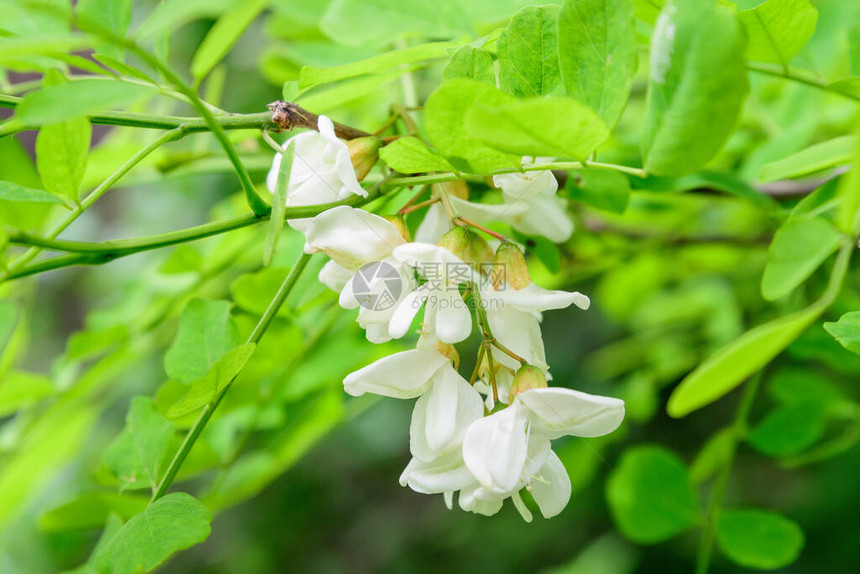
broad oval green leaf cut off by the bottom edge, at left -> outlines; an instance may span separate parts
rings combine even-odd
[[[212,514],[199,500],[175,492],[134,516],[95,556],[101,574],[149,572],[179,550],[209,537]]]

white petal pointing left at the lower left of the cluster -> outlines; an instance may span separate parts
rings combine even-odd
[[[448,359],[438,351],[413,349],[383,357],[350,373],[344,390],[353,396],[374,393],[396,399],[411,399],[430,386],[430,378]]]

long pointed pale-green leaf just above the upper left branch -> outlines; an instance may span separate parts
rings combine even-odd
[[[130,104],[154,90],[153,86],[89,79],[48,86],[24,96],[14,119],[29,127],[63,122]]]

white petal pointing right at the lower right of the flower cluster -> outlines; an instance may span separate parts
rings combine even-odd
[[[549,439],[609,434],[624,419],[621,399],[561,387],[529,389],[514,402],[522,402],[531,411],[531,432]]]

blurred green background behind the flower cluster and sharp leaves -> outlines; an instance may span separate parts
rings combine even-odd
[[[203,17],[172,31],[170,61],[176,69],[187,69],[215,18],[232,4],[195,3]],[[473,37],[504,26],[516,8],[526,4],[465,3],[464,8],[474,12]],[[739,4],[747,8],[756,2]],[[853,0],[813,4],[819,10],[818,26],[795,65],[830,80],[848,75],[849,31],[860,23],[860,4]],[[272,0],[270,10],[251,25],[214,79],[204,85],[207,99],[232,112],[263,111],[266,103],[290,97],[303,65],[339,65],[392,48],[392,33],[374,28],[372,10],[368,21],[354,14],[333,21],[324,18],[328,5],[327,0]],[[135,22],[153,6],[135,2]],[[421,31],[430,26],[428,14],[435,8],[428,3],[427,10],[414,15],[410,33],[398,45],[424,36]],[[644,21],[639,26],[644,43],[650,26]],[[351,33],[342,35],[343,30]],[[446,37],[437,33],[429,39]],[[643,54],[643,70],[645,60]],[[433,62],[411,70],[420,99],[439,84],[443,65]],[[644,72],[640,76],[603,161],[640,162]],[[28,78],[10,75],[13,82]],[[756,74],[750,79],[752,93],[741,125],[709,166],[732,173],[739,181],[755,182],[764,164],[844,134],[856,112],[851,102],[808,86]],[[164,102],[158,100],[148,109],[190,113]],[[386,120],[392,104],[403,102],[401,77],[380,73],[346,80],[315,89],[299,102],[316,113],[373,131]],[[95,134],[97,147],[85,178],[89,187],[152,137],[127,128],[97,128]],[[235,139],[255,181],[262,182],[270,150],[253,133]],[[33,153],[32,142],[32,133],[0,140],[2,179],[38,177],[25,160]],[[532,257],[530,266],[537,283],[584,292],[593,305],[588,312],[546,313],[547,359],[554,384],[622,397],[628,415],[622,429],[608,437],[558,441],[556,451],[574,492],[560,516],[526,524],[508,504],[493,518],[457,508],[448,511],[441,497],[416,494],[397,484],[409,459],[411,404],[350,399],[343,394],[341,381],[346,373],[407,348],[410,342],[374,347],[352,322],[354,313],[335,310],[329,334],[313,349],[305,349],[308,332],[330,320],[326,309],[336,300],[316,283],[315,271],[322,261],[315,261],[314,272],[301,284],[301,300],[290,302],[287,316],[267,335],[261,356],[255,356],[251,372],[243,375],[244,384],[231,391],[224,416],[207,429],[198,467],[206,471],[189,471],[185,477],[183,488],[202,489],[211,495],[204,500],[224,509],[213,523],[213,533],[163,571],[690,572],[699,531],[656,545],[628,541],[608,509],[607,476],[627,449],[659,444],[693,465],[694,478],[701,482],[710,478],[707,469],[694,462],[715,431],[730,424],[739,393],[676,420],[665,414],[671,388],[748,326],[813,299],[826,283],[826,274],[816,275],[805,289],[776,305],[765,304],[759,294],[770,237],[780,214],[800,196],[780,197],[779,207],[769,210],[737,195],[713,193],[708,181],[622,178],[627,180],[619,184],[622,188],[633,186],[629,206],[623,214],[613,214],[590,205],[586,196],[600,183],[581,175],[584,179],[577,174],[567,178],[565,192],[574,200],[577,231],[558,251],[533,246],[548,252]],[[475,186],[475,192],[481,189]],[[87,241],[137,237],[223,218],[243,211],[236,192],[235,176],[214,140],[207,134],[195,135],[144,162],[64,237]],[[407,198],[408,192],[392,201]],[[413,228],[421,215],[410,216]],[[275,270],[261,269],[264,233],[243,230],[227,238],[104,266],[62,270],[0,288],[0,295],[30,303],[27,332],[19,336],[26,342],[16,351],[18,369],[51,376],[59,385],[90,375],[100,381],[92,399],[100,405],[97,423],[68,456],[60,457],[63,464],[37,469],[30,483],[38,485],[37,495],[11,501],[0,490],[4,504],[15,506],[4,514],[14,520],[2,531],[0,572],[51,572],[72,568],[86,558],[99,530],[93,524],[75,524],[61,512],[63,505],[80,500],[98,484],[110,484],[99,470],[105,446],[122,428],[130,397],[152,395],[164,382],[163,352],[189,296],[232,300],[240,331],[250,330],[254,314],[268,301],[266,286],[282,275],[301,244],[297,234],[285,233]],[[852,272],[828,320],[860,306],[858,279]],[[296,319],[298,310],[308,312]],[[149,321],[161,313],[168,320],[150,328]],[[112,350],[111,356],[119,357],[114,364],[96,363],[87,353],[75,355],[69,346],[75,333],[111,328],[125,333],[118,339],[128,332],[145,334],[122,342],[120,355]],[[460,349],[462,372],[471,369],[476,345],[471,340]],[[296,358],[302,358],[304,366],[296,369]],[[100,369],[96,374],[94,365]],[[832,388],[843,402],[856,406],[858,375],[860,360],[817,324],[767,368],[752,424],[784,403],[792,385],[804,381]],[[225,470],[229,456],[224,453],[242,436],[247,415],[243,409],[256,400],[258,381],[263,386],[282,381],[285,391],[260,416],[258,430],[248,442],[250,454],[241,459],[239,470]],[[24,421],[11,416],[0,420],[4,423],[0,452],[11,452],[4,445],[15,444],[16,428]],[[805,547],[786,571],[852,572],[860,564],[860,450],[846,439],[838,456],[822,461],[802,458],[828,441],[850,439],[855,431],[856,421],[823,417],[820,433],[804,439],[802,448],[790,456],[769,456],[754,445],[740,445],[725,506],[773,509],[802,526]],[[262,455],[255,458],[263,452],[277,452],[277,462],[264,461]],[[206,458],[210,454],[220,464],[211,464]],[[214,489],[213,478],[218,485]],[[18,480],[26,484],[28,479]],[[98,514],[96,506],[90,502],[89,507],[71,507],[69,512],[86,522],[81,517],[88,511]],[[735,572],[738,567],[717,555],[711,571]]]

